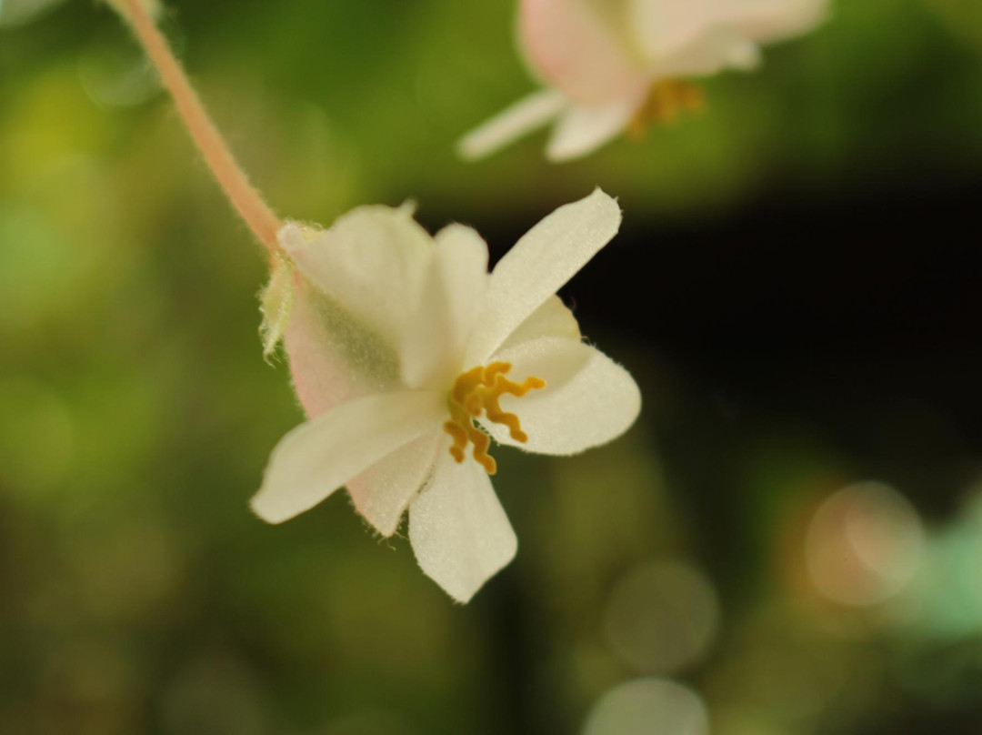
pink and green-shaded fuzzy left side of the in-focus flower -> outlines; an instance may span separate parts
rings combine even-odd
[[[399,353],[362,321],[300,276],[283,337],[290,372],[308,418],[369,393],[399,386]]]

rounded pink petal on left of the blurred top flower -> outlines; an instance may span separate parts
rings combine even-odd
[[[626,44],[582,0],[521,0],[518,33],[532,67],[580,104],[632,99],[648,85]]]

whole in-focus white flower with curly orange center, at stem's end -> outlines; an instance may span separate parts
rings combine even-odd
[[[597,190],[533,227],[490,274],[476,232],[430,237],[405,207],[360,207],[319,233],[284,227],[298,271],[284,340],[310,421],[273,451],[256,514],[280,523],[347,485],[391,536],[409,509],[423,572],[467,601],[518,543],[488,477],[489,435],[570,455],[620,435],[640,409],[633,379],[581,341],[555,295],[620,223]],[[290,267],[264,298],[267,341],[284,323],[274,302]]]

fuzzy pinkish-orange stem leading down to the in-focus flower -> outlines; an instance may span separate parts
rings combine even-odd
[[[211,173],[259,242],[270,254],[275,254],[280,249],[276,241],[276,233],[282,226],[279,217],[248,183],[245,172],[208,117],[180,62],[174,57],[167,39],[150,18],[141,0],[121,2],[126,9],[126,13],[122,15],[130,22],[136,38],[174,98],[178,113],[191,134],[191,140],[201,151]]]

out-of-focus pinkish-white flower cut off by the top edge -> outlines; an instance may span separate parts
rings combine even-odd
[[[626,129],[697,107],[691,77],[749,70],[759,46],[821,23],[829,0],[520,0],[518,36],[546,87],[469,133],[465,158],[550,122],[546,156],[565,161]]]

